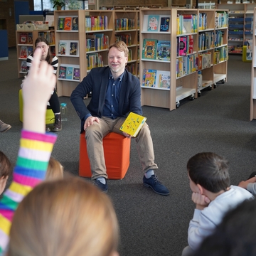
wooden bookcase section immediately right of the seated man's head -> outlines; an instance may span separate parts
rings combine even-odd
[[[114,11],[115,41],[122,40],[129,49],[127,70],[138,76],[138,11]]]

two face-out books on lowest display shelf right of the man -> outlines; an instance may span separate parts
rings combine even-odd
[[[144,69],[142,77],[143,87],[168,89],[171,85],[171,73],[164,70]]]

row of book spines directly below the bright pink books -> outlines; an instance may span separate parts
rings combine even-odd
[[[176,78],[196,72],[196,54],[183,56],[176,59]]]

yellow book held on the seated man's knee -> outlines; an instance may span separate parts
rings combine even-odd
[[[136,137],[140,129],[142,129],[144,122],[146,122],[146,117],[130,112],[127,119],[125,119],[122,124],[122,127],[120,127],[120,130],[122,132],[126,132],[132,137]]]

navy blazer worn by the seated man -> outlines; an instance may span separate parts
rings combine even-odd
[[[92,68],[90,73],[73,90],[70,100],[81,119],[81,132],[85,116],[102,117],[110,68]],[[90,103],[85,105],[84,97],[92,92]],[[129,112],[142,114],[141,87],[139,79],[124,69],[119,95],[119,117],[127,117]]]

